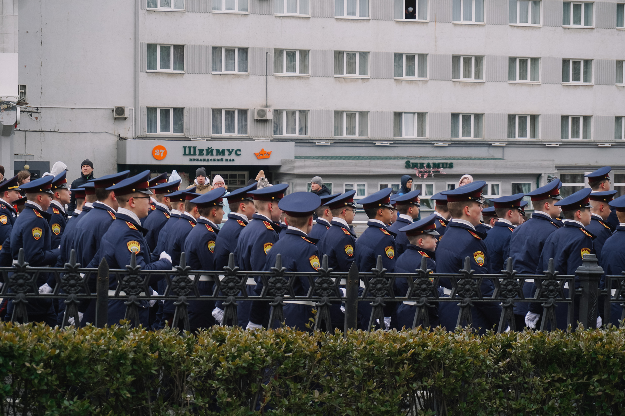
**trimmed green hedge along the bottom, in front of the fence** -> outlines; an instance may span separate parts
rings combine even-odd
[[[625,329],[326,334],[0,324],[2,415],[618,415]],[[434,407],[436,404],[436,407]],[[435,409],[423,410],[423,409]]]

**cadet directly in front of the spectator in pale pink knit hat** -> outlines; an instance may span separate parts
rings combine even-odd
[[[189,235],[184,240],[184,253],[186,254],[187,266],[191,270],[215,270],[215,242],[217,233],[224,218],[222,196],[226,193],[226,188],[214,188],[203,195],[191,200],[196,204],[199,218],[197,226],[189,231]],[[197,282],[197,290],[201,295],[212,295],[214,286],[214,276],[202,275]],[[196,332],[206,329],[215,324],[215,319],[211,316],[215,302],[212,301],[189,301],[189,324],[191,331]]]

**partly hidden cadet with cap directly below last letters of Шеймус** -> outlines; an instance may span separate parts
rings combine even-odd
[[[236,251],[241,231],[254,216],[256,211],[256,208],[254,208],[254,196],[249,193],[252,190],[256,190],[256,183],[239,188],[226,195],[230,212],[228,213],[228,220],[221,227],[219,235],[217,235],[215,240],[215,270],[221,271],[228,265],[230,253]],[[234,256],[234,265],[239,265],[236,256]],[[216,307],[212,311],[212,316],[219,324],[221,324],[224,317],[222,303],[222,301],[217,301]]]

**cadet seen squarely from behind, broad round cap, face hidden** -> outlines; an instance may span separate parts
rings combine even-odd
[[[266,189],[266,188],[265,188]],[[285,222],[287,230],[284,236],[274,244],[267,254],[264,270],[269,271],[276,264],[277,254],[281,255],[282,267],[286,271],[303,271],[316,273],[321,266],[319,253],[317,252],[316,240],[308,238],[312,229],[312,213],[321,205],[321,198],[312,192],[294,192],[279,201],[279,208],[286,212]],[[295,296],[306,296],[310,288],[307,278],[297,277],[292,284]],[[257,284],[255,292],[260,293],[262,283]],[[284,321],[298,331],[310,331],[306,327],[309,320],[314,317],[312,309],[314,302],[307,301],[284,301]],[[249,311],[248,329],[259,329],[269,314],[267,302],[252,302]],[[271,326],[273,322],[269,322]]]

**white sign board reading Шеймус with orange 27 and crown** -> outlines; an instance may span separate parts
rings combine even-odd
[[[123,140],[118,163],[125,165],[281,165],[295,158],[293,142],[215,142],[207,140]]]

